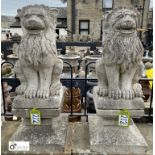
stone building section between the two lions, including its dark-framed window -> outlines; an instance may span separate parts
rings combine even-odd
[[[101,38],[101,0],[67,0],[67,28],[72,34]]]

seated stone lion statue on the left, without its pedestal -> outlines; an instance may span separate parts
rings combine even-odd
[[[29,5],[18,10],[23,29],[17,48],[15,71],[21,85],[18,94],[26,98],[48,98],[59,94],[63,62],[57,58],[56,14],[44,5]]]

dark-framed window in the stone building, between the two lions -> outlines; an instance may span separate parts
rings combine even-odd
[[[84,34],[84,35],[89,34],[89,20],[79,21],[79,34]]]

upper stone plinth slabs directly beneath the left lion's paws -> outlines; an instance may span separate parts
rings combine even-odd
[[[42,98],[25,98],[24,95],[18,95],[12,106],[12,113],[15,116],[23,118],[24,125],[30,125],[30,111],[33,108],[41,113],[41,124],[51,125],[53,118],[58,117],[61,112],[61,104],[63,101],[63,88],[60,90],[60,95],[50,96],[47,99]]]

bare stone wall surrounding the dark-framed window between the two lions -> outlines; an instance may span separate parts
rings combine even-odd
[[[67,27],[72,30],[72,4],[67,1]],[[90,21],[90,35],[93,40],[101,38],[102,0],[75,0],[75,34],[79,34],[79,20]]]

